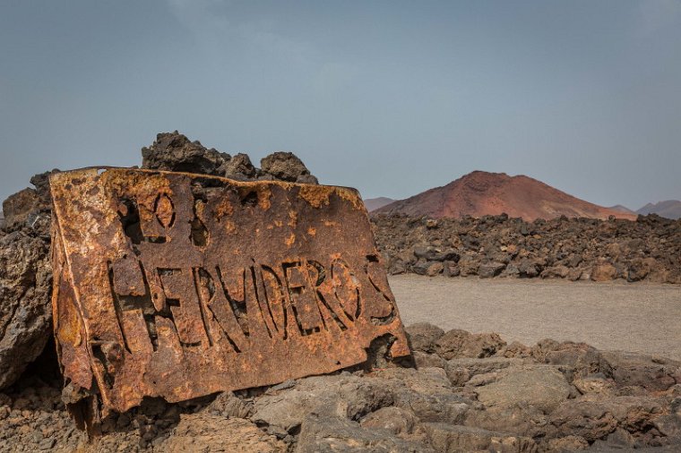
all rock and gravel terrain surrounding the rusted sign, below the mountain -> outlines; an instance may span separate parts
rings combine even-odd
[[[291,153],[254,167],[178,132],[142,158],[316,183]],[[4,201],[0,230],[0,451],[679,451],[681,286],[662,283],[681,282],[681,224],[651,216],[375,217],[384,264],[407,273],[390,283],[411,356],[393,357],[385,337],[365,363],[327,375],[177,404],[147,397],[89,439],[66,405],[90,390],[64,380],[51,339],[47,174],[31,184]]]

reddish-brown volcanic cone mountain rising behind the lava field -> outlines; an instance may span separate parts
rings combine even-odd
[[[615,209],[603,208],[561,192],[528,176],[475,171],[443,187],[435,187],[406,200],[395,201],[375,213],[403,213],[411,216],[459,218],[481,217],[503,212],[526,220],[560,216],[587,218],[629,218]]]

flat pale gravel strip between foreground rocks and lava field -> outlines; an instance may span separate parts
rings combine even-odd
[[[498,332],[507,342],[584,341],[681,360],[681,286],[392,276],[405,325]]]

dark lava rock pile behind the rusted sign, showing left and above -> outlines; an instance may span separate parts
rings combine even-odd
[[[142,148],[142,167],[226,175],[240,180],[284,179],[316,184],[305,165],[291,153],[263,159],[276,175],[253,167],[246,154],[234,158],[208,150],[180,133],[159,133]],[[3,202],[0,231],[0,389],[13,383],[52,337],[49,263],[51,201],[48,176],[34,175],[35,189],[24,189]],[[294,177],[295,176],[295,177]]]

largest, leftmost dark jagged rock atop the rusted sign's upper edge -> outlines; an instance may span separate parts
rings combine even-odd
[[[220,176],[220,167],[230,156],[206,149],[200,141],[189,141],[185,135],[160,132],[150,147],[142,148],[142,168]]]

